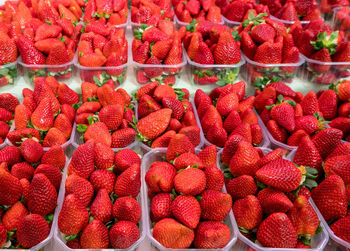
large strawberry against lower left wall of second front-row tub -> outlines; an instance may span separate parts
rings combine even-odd
[[[64,198],[58,216],[58,227],[64,234],[78,234],[89,222],[89,212],[74,194]]]

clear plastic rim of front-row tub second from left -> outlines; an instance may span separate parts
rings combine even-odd
[[[69,160],[70,162],[70,160]],[[59,228],[58,228],[58,216],[61,212],[61,209],[62,209],[62,205],[63,205],[63,201],[64,201],[64,198],[65,198],[65,182],[66,182],[66,179],[67,179],[67,171],[64,172],[64,174],[62,175],[62,184],[61,185],[61,188],[60,188],[60,194],[59,194],[59,197],[58,197],[58,201],[59,201],[59,204],[58,204],[58,207],[56,208],[56,214],[55,214],[55,219],[54,219],[54,225],[53,225],[53,228],[54,228],[54,233],[53,233],[53,236],[54,236],[54,239],[55,239],[55,242],[58,244],[58,246],[60,247],[59,250],[65,250],[65,251],[74,251],[74,250],[80,250],[80,251],[132,251],[132,250],[135,250],[140,244],[141,242],[145,239],[145,236],[146,236],[146,230],[145,230],[145,216],[144,216],[144,210],[142,209],[142,217],[138,223],[138,227],[139,227],[139,230],[140,230],[140,238],[133,244],[131,245],[129,248],[127,249],[113,249],[113,248],[110,248],[110,249],[71,249],[69,247],[67,247],[66,245],[66,241],[64,240],[64,236],[63,234],[59,231]],[[141,187],[141,190],[142,190],[142,187]],[[137,196],[137,201],[139,202],[140,206],[142,207],[143,205],[143,197],[141,196],[141,191],[139,193],[139,195]]]

